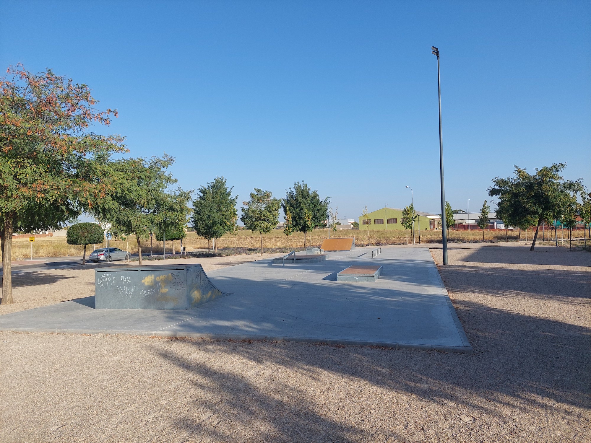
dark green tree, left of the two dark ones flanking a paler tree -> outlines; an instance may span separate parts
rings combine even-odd
[[[193,216],[191,224],[197,235],[207,240],[217,239],[233,229],[232,220],[237,217],[236,200],[232,197],[232,189],[226,186],[226,179],[216,177],[197,190],[197,198],[193,201]]]

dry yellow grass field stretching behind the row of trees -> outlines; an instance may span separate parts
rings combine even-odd
[[[545,233],[547,236],[547,233]],[[583,231],[579,230],[575,237],[582,237]],[[306,236],[306,246],[320,246],[322,240],[329,236],[328,229],[316,229]],[[368,231],[365,229],[339,229],[336,233],[330,232],[331,237],[355,237],[355,243],[358,246],[368,245]],[[448,231],[447,237],[450,242],[475,242],[476,240],[482,240],[482,231],[463,231],[463,230],[450,230]],[[532,231],[527,233],[527,239],[531,240]],[[508,232],[508,239],[517,240],[519,238],[519,232]],[[521,239],[526,238],[525,232],[521,233]],[[547,237],[546,237],[547,238]],[[561,239],[563,241],[561,242]],[[415,232],[415,240],[418,242],[418,231]],[[485,240],[498,240],[505,241],[504,231],[485,231]],[[540,234],[539,241],[541,242],[542,237]],[[410,231],[404,230],[389,230],[389,231],[369,231],[369,243],[371,246],[384,246],[384,245],[405,245],[412,243],[412,237]],[[423,243],[437,243],[441,242],[441,231],[421,231],[421,242]],[[194,232],[188,232],[187,238],[183,240],[187,250],[204,249],[208,247],[208,242],[202,237],[198,237]],[[563,243],[564,246],[568,246],[568,233],[565,231],[561,233],[558,230],[558,244]],[[580,245],[579,245],[580,243]],[[573,242],[573,246],[582,246],[583,242]],[[589,243],[591,245],[591,243]],[[251,232],[248,230],[241,230],[236,236],[232,234],[226,234],[221,239],[217,240],[217,246],[223,247],[243,247],[243,248],[258,248],[261,246],[261,240],[259,233]],[[96,245],[105,246],[103,245]],[[119,247],[123,250],[128,250],[131,253],[137,253],[138,247],[135,242],[135,236],[129,236],[126,240],[111,240],[111,246]],[[209,243],[211,246],[211,243]],[[268,234],[263,234],[263,246],[265,248],[272,247],[303,247],[304,246],[304,234],[294,233],[289,239],[283,234],[282,230],[275,229]],[[157,242],[155,239],[152,243],[152,249],[154,252],[162,252],[162,243]],[[174,250],[178,252],[180,249],[180,241],[174,242]],[[92,246],[86,248],[86,256],[92,250]],[[171,252],[171,242],[166,242],[167,252]],[[144,240],[142,242],[142,251],[150,252],[150,240]],[[31,253],[30,244],[27,239],[13,240],[12,242],[12,260],[20,260],[22,258],[29,258]],[[66,256],[81,256],[82,246],[67,245],[66,237],[47,237],[42,239],[35,239],[33,244],[33,256],[34,257],[66,257]]]

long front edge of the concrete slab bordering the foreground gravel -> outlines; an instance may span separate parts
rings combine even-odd
[[[248,334],[215,334],[215,333],[179,333],[172,331],[134,331],[134,330],[83,330],[83,329],[44,329],[44,328],[2,328],[6,332],[54,333],[54,334],[106,334],[106,335],[135,335],[140,337],[177,337],[177,338],[210,338],[212,340],[268,340],[268,341],[296,341],[301,343],[344,344],[349,346],[379,346],[395,349],[419,349],[444,352],[459,352],[472,354],[472,346],[441,346],[420,343],[398,343],[389,341],[370,340],[342,340],[340,338],[322,337],[290,337],[284,335],[248,335]]]

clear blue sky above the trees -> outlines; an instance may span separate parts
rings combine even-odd
[[[479,209],[513,165],[591,187],[589,2],[0,2],[0,67],[51,67],[119,118],[134,157],[239,202],[303,180],[339,216]]]

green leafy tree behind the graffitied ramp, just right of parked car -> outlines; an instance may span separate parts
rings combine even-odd
[[[114,171],[125,177],[125,181],[103,201],[99,209],[100,218],[112,223],[115,236],[135,235],[140,266],[141,240],[148,239],[154,232],[157,209],[170,198],[167,188],[177,183],[166,171],[173,163],[174,158],[164,154],[162,158],[152,157],[150,161],[144,158],[120,159],[111,165]]]

